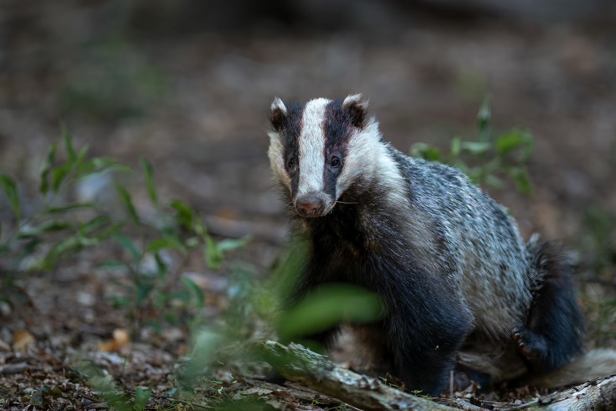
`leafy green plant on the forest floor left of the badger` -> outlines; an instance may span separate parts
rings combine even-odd
[[[126,216],[116,216],[96,203],[65,203],[63,193],[79,182],[103,173],[127,173],[130,168],[113,158],[88,158],[88,148],[79,152],[73,139],[63,132],[65,160],[57,161],[58,145],[52,145],[41,167],[39,194],[41,207],[31,216],[22,218],[18,186],[14,179],[0,174],[0,187],[9,200],[15,218],[15,229],[0,242],[0,256],[9,261],[0,267],[9,275],[0,288],[0,299],[11,301],[3,290],[19,274],[52,271],[63,259],[77,256],[87,248],[115,242],[124,250],[123,257],[108,259],[99,264],[102,269],[122,269],[129,281],[122,282],[126,295],[115,296],[116,307],[126,309],[132,320],[133,335],[143,325],[156,330],[164,322],[178,323],[182,319],[172,302],[178,301],[192,309],[193,315],[185,325],[194,328],[200,322],[203,293],[189,278],[182,276],[182,268],[189,253],[203,255],[210,269],[219,269],[224,254],[244,246],[248,238],[214,240],[203,220],[186,203],[172,200],[162,204],[156,192],[153,169],[145,158],[140,159],[145,188],[156,209],[153,224],[139,215],[131,194],[120,183],[116,193]],[[174,269],[169,267],[171,254],[179,256]],[[147,267],[145,262],[151,261]],[[172,285],[181,284],[180,290]]]

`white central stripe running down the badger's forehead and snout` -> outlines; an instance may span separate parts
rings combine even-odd
[[[299,136],[298,197],[323,190],[323,165],[325,164],[325,136],[323,121],[325,108],[331,100],[314,99],[306,103]]]

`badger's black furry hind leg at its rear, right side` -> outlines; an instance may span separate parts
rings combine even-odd
[[[574,264],[569,253],[536,235],[527,249],[540,283],[526,322],[513,331],[513,338],[533,372],[549,372],[581,354],[584,317],[573,288]]]

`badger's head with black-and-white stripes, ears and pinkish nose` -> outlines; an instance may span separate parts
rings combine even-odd
[[[269,158],[300,216],[329,213],[342,193],[375,171],[383,144],[361,94],[272,103]]]

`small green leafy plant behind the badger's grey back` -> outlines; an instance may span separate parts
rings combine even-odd
[[[503,180],[498,175],[505,174],[524,194],[532,192],[526,167],[532,151],[532,134],[525,129],[514,128],[500,134],[492,132],[488,99],[484,99],[477,115],[477,140],[454,137],[448,153],[425,143],[411,147],[413,157],[452,165],[475,184],[485,183],[500,188]]]

